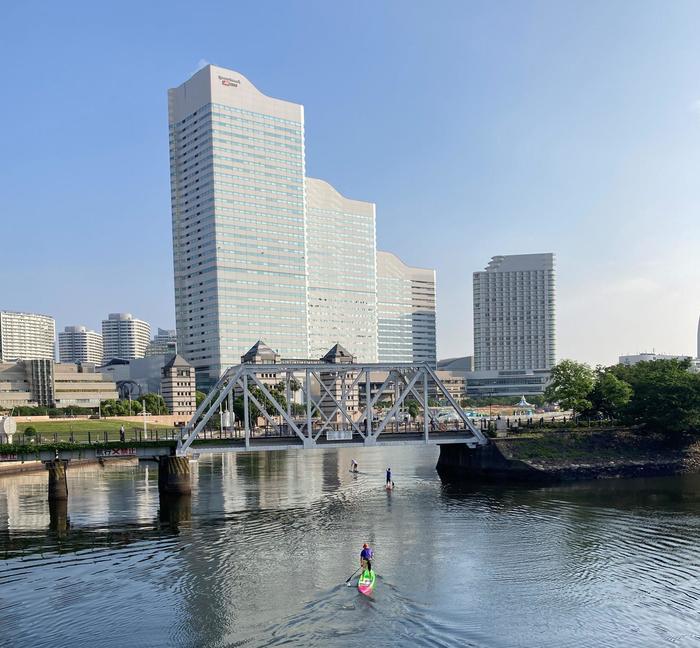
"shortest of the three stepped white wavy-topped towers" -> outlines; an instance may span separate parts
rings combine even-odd
[[[435,270],[377,252],[380,362],[436,364]]]

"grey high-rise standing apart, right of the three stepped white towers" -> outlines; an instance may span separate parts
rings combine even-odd
[[[474,368],[550,369],[555,363],[554,255],[495,256],[474,273]]]

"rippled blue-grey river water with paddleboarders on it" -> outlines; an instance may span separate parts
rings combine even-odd
[[[67,511],[0,478],[0,645],[700,645],[699,478],[457,488],[436,459],[203,455],[170,504],[154,466],[70,468]]]

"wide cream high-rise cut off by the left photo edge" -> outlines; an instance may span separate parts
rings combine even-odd
[[[53,360],[55,353],[53,317],[0,311],[0,362]]]

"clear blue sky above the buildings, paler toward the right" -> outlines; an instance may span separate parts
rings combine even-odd
[[[695,353],[700,3],[23,2],[3,9],[0,308],[174,326],[168,87],[202,61],[306,109],[307,173],[438,271],[558,259],[558,355]]]

